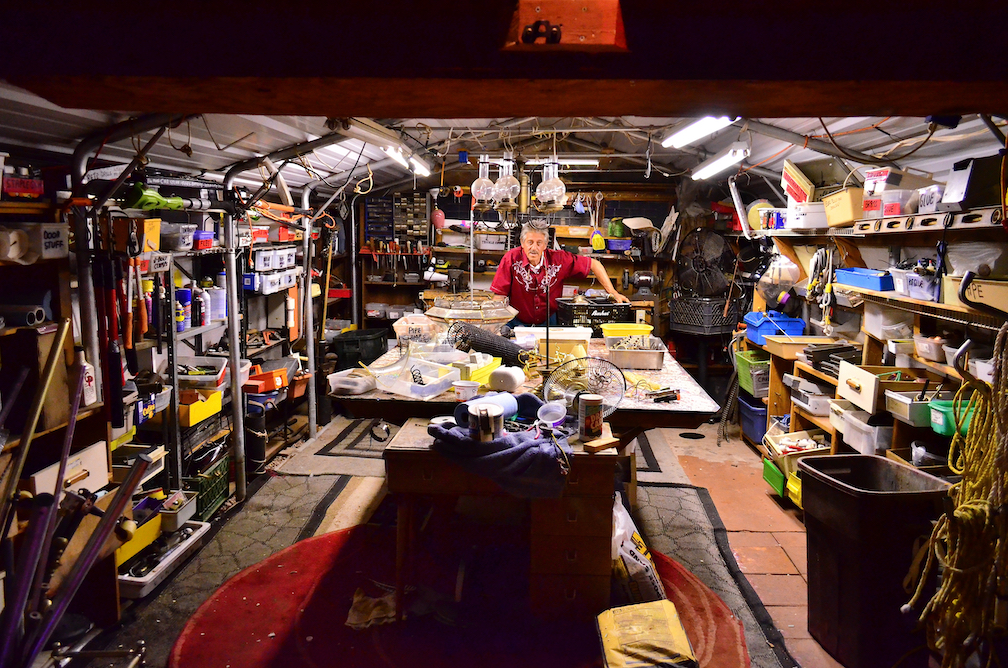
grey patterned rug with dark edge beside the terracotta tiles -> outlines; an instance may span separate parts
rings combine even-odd
[[[640,484],[634,522],[652,552],[668,555],[710,587],[745,629],[755,668],[797,663],[752,585],[739,569],[711,495],[680,484]]]

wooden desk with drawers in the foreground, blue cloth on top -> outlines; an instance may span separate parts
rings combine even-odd
[[[432,449],[427,420],[411,418],[385,448],[385,479],[397,502],[395,606],[413,583],[418,497],[507,496],[489,478],[470,474]],[[543,620],[593,619],[609,608],[614,477],[626,456],[614,449],[591,454],[572,444],[561,496],[532,499],[529,525],[529,603]]]

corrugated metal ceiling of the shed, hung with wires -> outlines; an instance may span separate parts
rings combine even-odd
[[[0,147],[15,151],[18,147],[69,155],[85,136],[125,120],[125,112],[96,112],[59,108],[22,89],[0,82]],[[734,141],[747,141],[751,155],[746,166],[772,171],[781,168],[784,159],[801,163],[823,157],[822,153],[802,148],[744,129],[740,122],[684,150],[666,149],[661,139],[691,119],[670,118],[526,118],[526,119],[378,119],[377,122],[400,133],[402,144],[424,156],[433,173],[417,181],[420,187],[437,184],[438,168],[463,166],[458,151],[471,157],[481,152],[500,155],[505,146],[531,157],[548,155],[554,148],[561,156],[602,157],[599,170],[611,172],[613,180],[662,182],[664,177],[687,172],[707,155],[714,154]],[[794,133],[830,141],[823,124],[814,118],[764,119],[763,122]],[[894,158],[904,168],[933,174],[939,180],[951,165],[966,157],[996,153],[1000,147],[994,134],[977,116],[963,119],[956,129],[939,129],[927,142],[905,159],[900,156],[915,149],[928,136],[922,118],[828,118],[826,126],[834,141],[845,150]],[[1004,124],[1003,121],[998,121]],[[183,174],[219,178],[236,162],[253,158],[328,134],[327,119],[321,116],[256,116],[206,114],[173,129],[150,152],[150,166]],[[138,138],[137,142],[146,141]],[[192,148],[192,155],[178,150]],[[128,162],[134,145],[119,142],[104,146],[101,158],[112,163]],[[347,138],[332,146],[317,149],[304,156],[304,163],[292,161],[283,169],[288,185],[297,189],[319,177],[339,185],[356,162],[356,177],[370,165],[376,189],[411,187],[412,174],[390,159],[375,143]],[[645,170],[650,160],[650,177]],[[853,167],[857,163],[848,161]],[[568,172],[573,180],[586,169]],[[759,170],[756,170],[758,172]],[[756,173],[754,172],[754,173]],[[448,180],[448,179],[447,179]],[[239,184],[258,185],[258,174],[246,172]],[[325,186],[320,191],[331,188]]]

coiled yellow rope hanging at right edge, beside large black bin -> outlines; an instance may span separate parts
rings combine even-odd
[[[993,389],[984,383],[963,383],[953,413],[956,432],[949,449],[949,466],[963,480],[950,491],[952,508],[934,526],[916,590],[903,612],[922,597],[937,563],[941,583],[924,606],[919,622],[927,646],[941,655],[941,668],[962,668],[978,650],[1003,633],[1008,620],[1008,323],[998,331],[994,349]],[[966,434],[960,426],[973,409]],[[916,561],[916,560],[915,560]]]

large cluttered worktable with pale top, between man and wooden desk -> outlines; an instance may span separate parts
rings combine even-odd
[[[588,353],[591,357],[608,359],[605,342],[601,339],[591,341]],[[664,356],[664,365],[659,370],[628,369],[627,371],[662,387],[679,390],[679,400],[655,403],[645,397],[643,392],[628,391],[616,412],[607,418],[613,434],[624,444],[647,429],[658,427],[695,429],[720,410],[718,402],[708,395],[671,355],[665,352]],[[374,365],[384,367],[398,359],[399,351],[393,349],[375,361]],[[538,377],[528,380],[520,392],[531,392],[540,382],[541,379]],[[452,390],[427,401],[390,394],[383,390],[372,390],[352,396],[330,396],[334,404],[341,405],[354,417],[385,417],[396,421],[409,417],[431,418],[437,415],[451,415],[456,406],[455,393]]]

